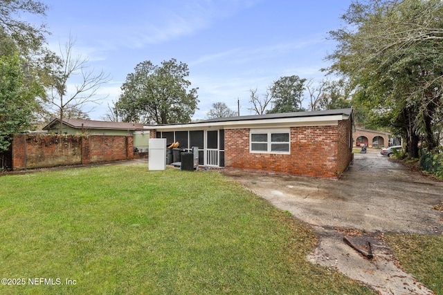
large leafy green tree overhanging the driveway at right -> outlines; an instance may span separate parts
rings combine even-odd
[[[330,73],[347,79],[369,120],[404,136],[410,158],[418,143],[433,149],[442,129],[443,2],[354,1],[330,32],[338,46]],[[421,137],[421,138],[420,138]]]

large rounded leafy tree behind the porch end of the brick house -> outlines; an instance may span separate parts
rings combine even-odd
[[[188,65],[176,59],[162,61],[161,66],[141,62],[121,86],[122,94],[116,102],[118,113],[124,122],[190,122],[199,100],[198,88],[188,90],[188,76]]]

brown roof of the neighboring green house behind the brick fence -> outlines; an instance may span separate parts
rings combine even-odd
[[[51,126],[60,122],[60,119],[55,118],[48,125],[43,127],[43,130],[51,129]],[[109,122],[83,119],[63,119],[63,123],[75,129],[120,129],[120,130],[138,130],[143,129],[143,124],[127,123],[127,122]]]

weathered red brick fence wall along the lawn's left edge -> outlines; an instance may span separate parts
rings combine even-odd
[[[15,134],[12,140],[13,171],[133,158],[132,135]]]

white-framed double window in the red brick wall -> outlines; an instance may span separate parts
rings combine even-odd
[[[289,129],[251,129],[251,153],[289,154]]]

